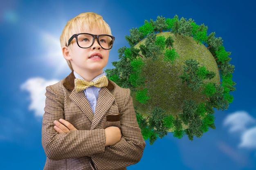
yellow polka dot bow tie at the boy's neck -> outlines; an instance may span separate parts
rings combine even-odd
[[[106,77],[106,75],[102,75],[93,82],[87,82],[84,79],[75,79],[75,89],[77,92],[83,91],[90,86],[106,87],[108,86],[108,78]]]

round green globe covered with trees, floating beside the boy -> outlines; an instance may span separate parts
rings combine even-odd
[[[141,133],[150,144],[168,132],[201,137],[215,128],[214,110],[233,101],[231,53],[207,29],[177,15],[145,20],[130,29],[130,48],[120,48],[115,68],[106,70],[109,79],[130,88]]]

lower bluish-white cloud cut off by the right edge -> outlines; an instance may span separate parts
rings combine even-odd
[[[241,139],[239,147],[256,149],[256,127],[246,130]]]

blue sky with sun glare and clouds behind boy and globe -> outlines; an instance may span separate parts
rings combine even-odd
[[[40,170],[45,163],[41,146],[41,121],[45,86],[66,77],[70,70],[62,57],[59,36],[66,22],[79,13],[103,16],[116,41],[106,68],[118,60],[117,49],[129,46],[131,28],[157,16],[192,18],[208,26],[207,33],[222,37],[231,51],[236,82],[234,102],[215,112],[216,130],[193,141],[170,133],[147,146],[137,169],[255,170],[255,20],[249,0],[9,0],[0,5],[2,60],[0,102],[0,169]]]

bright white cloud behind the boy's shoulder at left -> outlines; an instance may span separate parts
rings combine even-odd
[[[43,116],[45,107],[45,88],[51,84],[55,84],[58,80],[45,80],[41,77],[28,79],[20,88],[30,93],[31,103],[29,110],[34,110],[36,116]]]

